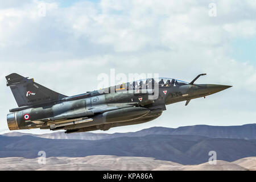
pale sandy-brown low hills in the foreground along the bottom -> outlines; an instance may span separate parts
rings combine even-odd
[[[0,170],[255,170],[256,157],[235,162],[217,160],[217,164],[203,163],[185,166],[178,163],[143,157],[86,156],[84,158],[51,157],[46,164],[38,158],[0,158]]]

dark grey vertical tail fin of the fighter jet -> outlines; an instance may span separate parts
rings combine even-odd
[[[17,73],[6,76],[6,80],[19,107],[46,104],[67,97]]]

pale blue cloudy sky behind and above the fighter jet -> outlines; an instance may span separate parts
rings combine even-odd
[[[0,133],[9,131],[6,114],[17,107],[6,86],[10,73],[73,96],[96,90],[98,76],[111,69],[188,82],[207,73],[196,82],[233,87],[106,133],[255,123],[255,48],[254,0],[1,1]]]

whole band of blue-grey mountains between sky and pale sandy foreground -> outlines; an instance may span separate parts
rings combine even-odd
[[[233,162],[256,156],[255,133],[256,124],[196,125],[177,129],[152,127],[137,132],[115,134],[66,135],[58,132],[29,136],[8,133],[0,135],[0,158],[37,158],[39,151],[45,151],[48,158],[77,158],[90,155],[136,156],[195,165],[208,162],[209,151],[216,151],[218,160]]]

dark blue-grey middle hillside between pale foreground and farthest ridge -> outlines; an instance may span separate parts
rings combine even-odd
[[[46,139],[32,136],[0,135],[0,157],[37,158],[39,151],[47,157],[84,157],[116,155],[150,157],[180,164],[208,162],[209,151],[218,160],[232,162],[256,156],[256,142],[244,139],[208,138],[193,135],[146,135],[101,140]]]

